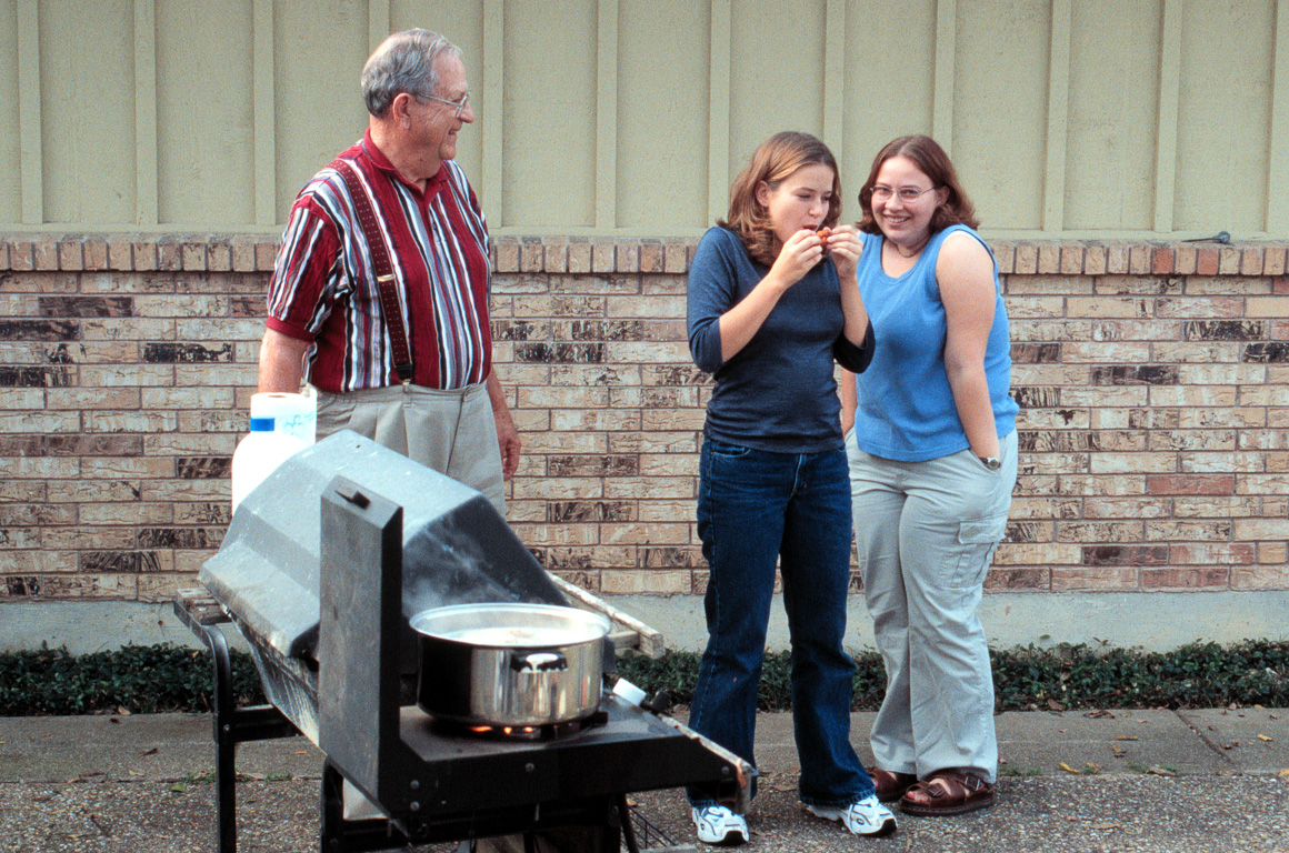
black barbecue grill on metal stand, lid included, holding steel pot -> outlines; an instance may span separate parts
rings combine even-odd
[[[501,835],[525,849],[539,836],[579,853],[637,849],[626,794],[713,783],[742,804],[755,774],[666,716],[664,697],[605,691],[584,719],[527,731],[478,732],[418,707],[409,620],[429,608],[568,606],[572,591],[614,616],[610,647],[660,638],[557,582],[482,495],[352,432],[253,491],[200,580],[213,600],[180,595],[175,609],[215,657],[220,853],[236,849],[233,756],[249,740],[300,733],[322,750],[322,849],[336,853]],[[247,639],[272,705],[232,707],[219,620]],[[375,817],[347,813],[351,786]]]

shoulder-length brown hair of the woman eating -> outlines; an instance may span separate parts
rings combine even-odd
[[[753,260],[772,267],[781,246],[776,245],[770,211],[757,200],[757,187],[764,182],[775,189],[802,166],[815,164],[833,170],[833,197],[828,202],[828,215],[820,223],[831,228],[842,216],[842,179],[838,177],[837,160],[822,142],[808,133],[794,130],[776,133],[757,146],[748,165],[730,187],[730,216],[718,219],[717,224],[739,235]]]

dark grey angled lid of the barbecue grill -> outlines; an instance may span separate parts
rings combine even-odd
[[[201,567],[201,582],[253,643],[316,657],[321,496],[336,474],[403,508],[406,646],[415,646],[407,621],[432,607],[568,603],[483,495],[344,430],[299,451],[247,495]]]

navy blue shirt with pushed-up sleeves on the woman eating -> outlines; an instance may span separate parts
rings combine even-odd
[[[843,338],[840,283],[826,258],[788,289],[748,345],[722,361],[721,316],[768,273],[728,228],[710,228],[699,242],[686,322],[693,362],[715,378],[704,434],[779,454],[838,450],[834,348],[846,367],[864,370],[873,353],[871,326],[862,349]]]

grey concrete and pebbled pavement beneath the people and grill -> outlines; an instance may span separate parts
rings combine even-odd
[[[852,723],[865,760],[871,720]],[[802,810],[791,716],[762,715],[745,849],[1289,853],[1289,710],[1009,713],[998,732],[996,807],[900,816],[896,835],[857,840]],[[237,764],[238,849],[317,850],[321,754],[303,738],[266,741],[240,746]],[[214,850],[213,767],[205,715],[3,718],[0,850]],[[674,843],[693,844],[678,791],[632,799]]]

